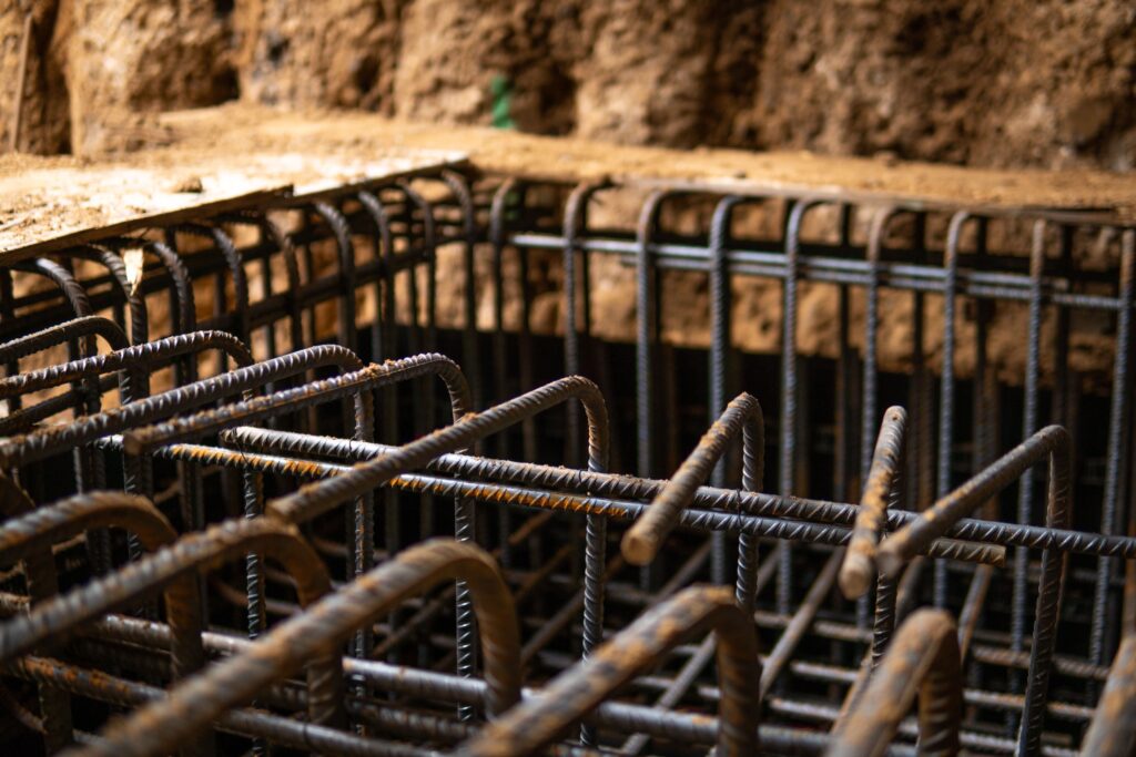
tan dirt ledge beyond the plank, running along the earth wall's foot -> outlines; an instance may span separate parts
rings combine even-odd
[[[1136,218],[1136,178],[1106,171],[982,170],[933,163],[833,158],[809,152],[669,150],[543,137],[475,127],[392,121],[357,112],[285,113],[225,106],[167,113],[181,150],[367,157],[393,148],[457,151],[487,171],[566,180],[691,180],[746,190],[850,192],[1006,210],[1094,209]]]

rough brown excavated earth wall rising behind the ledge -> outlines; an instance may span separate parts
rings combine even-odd
[[[1127,0],[0,0],[0,136],[160,142],[234,98],[621,143],[987,166],[1136,159]]]

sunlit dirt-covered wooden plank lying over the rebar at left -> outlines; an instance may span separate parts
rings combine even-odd
[[[165,149],[108,162],[0,159],[0,259],[14,262],[67,246],[236,209],[314,199],[344,185],[371,186],[456,165],[460,153],[390,149],[349,155],[310,152],[234,154]]]

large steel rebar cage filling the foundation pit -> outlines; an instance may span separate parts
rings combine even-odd
[[[453,166],[7,262],[0,738],[1127,755],[1134,255]]]

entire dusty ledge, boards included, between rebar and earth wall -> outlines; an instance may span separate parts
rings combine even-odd
[[[617,146],[358,112],[232,104],[170,112],[145,150],[106,160],[0,157],[0,253],[45,251],[85,229],[124,229],[203,204],[252,204],[323,184],[467,158],[510,175],[578,182],[691,182],[740,192],[846,193],[1018,212],[1097,211],[1136,219],[1136,180],[1104,171],[1008,171],[807,152]]]

